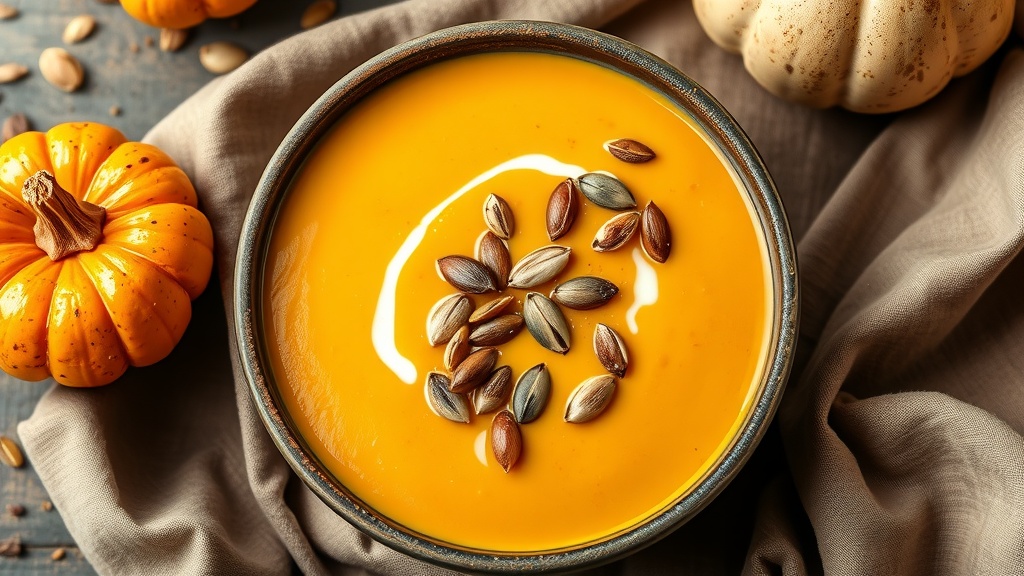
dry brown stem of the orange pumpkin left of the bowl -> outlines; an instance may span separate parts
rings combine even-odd
[[[32,229],[36,233],[36,246],[51,260],[92,250],[103,236],[106,210],[78,200],[46,170],[26,178],[22,198],[36,213],[36,225]]]

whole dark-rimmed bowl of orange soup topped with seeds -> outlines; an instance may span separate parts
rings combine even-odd
[[[718,101],[536,22],[390,49],[285,138],[237,338],[267,430],[345,521],[427,562],[551,572],[696,515],[781,398],[782,205]]]

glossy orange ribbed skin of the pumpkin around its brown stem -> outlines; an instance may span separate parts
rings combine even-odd
[[[39,170],[106,209],[94,249],[53,261],[36,246],[22,187]],[[0,146],[0,368],[97,386],[170,354],[213,264],[196,202],[166,154],[108,126],[61,124]]]

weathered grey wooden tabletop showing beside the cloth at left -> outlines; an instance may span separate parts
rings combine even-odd
[[[335,17],[393,0],[340,0]],[[129,139],[141,138],[167,113],[181,104],[214,76],[199,64],[200,46],[227,40],[256,52],[299,33],[299,18],[312,0],[281,2],[264,0],[240,16],[210,20],[194,29],[188,42],[177,52],[162,52],[159,31],[133,20],[118,4],[96,0],[0,0],[20,14],[0,20],[0,64],[14,61],[28,67],[26,78],[0,84],[0,120],[25,114],[33,129],[46,130],[60,122],[91,120],[114,126]],[[66,46],[61,34],[78,14],[92,14],[95,32],[81,43]],[[78,57],[86,70],[82,88],[65,93],[50,86],[39,74],[40,52],[62,46]],[[116,107],[118,111],[113,111]],[[117,114],[114,114],[117,112]],[[39,398],[52,381],[24,382],[0,373],[0,434],[16,439],[16,425],[32,414]],[[46,491],[27,462],[19,469],[0,465],[0,540],[17,535],[24,552],[19,558],[0,558],[0,574],[94,574],[65,528],[58,510],[45,511]],[[14,518],[3,507],[22,504],[26,513]],[[57,548],[66,556],[50,557]]]

